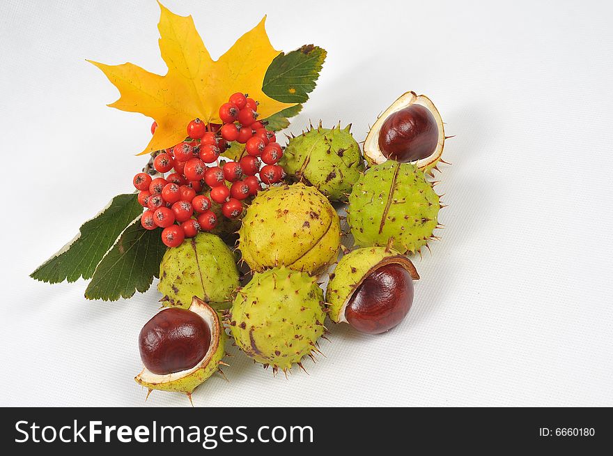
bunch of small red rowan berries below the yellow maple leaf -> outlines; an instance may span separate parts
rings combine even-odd
[[[237,218],[243,200],[255,196],[262,182],[270,185],[284,178],[277,165],[283,149],[274,132],[257,120],[257,109],[252,98],[234,93],[219,108],[222,126],[200,119],[189,122],[185,141],[156,153],[153,168],[161,176],[146,172],[134,176],[139,203],[145,208],[141,225],[162,228],[162,242],[168,247],[214,229],[217,215],[212,204],[221,205],[224,217]],[[154,122],[152,134],[156,128]],[[245,144],[246,154],[237,162],[220,164],[219,155],[234,141]],[[203,195],[209,189],[208,196]]]

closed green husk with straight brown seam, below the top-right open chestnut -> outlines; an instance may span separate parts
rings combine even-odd
[[[414,253],[437,227],[439,197],[411,163],[388,160],[375,165],[353,187],[348,223],[356,245],[389,245]]]

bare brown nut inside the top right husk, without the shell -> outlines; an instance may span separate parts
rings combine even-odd
[[[413,104],[390,114],[379,132],[379,149],[401,163],[427,158],[437,148],[438,126],[430,110]]]

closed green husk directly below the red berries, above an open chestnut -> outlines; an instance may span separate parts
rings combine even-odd
[[[200,233],[183,244],[166,250],[160,263],[164,305],[189,307],[197,296],[217,310],[230,306],[238,287],[238,268],[233,252],[219,236]]]

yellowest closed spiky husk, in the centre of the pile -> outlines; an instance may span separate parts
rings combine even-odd
[[[340,243],[332,205],[316,188],[295,183],[258,193],[242,219],[238,248],[254,271],[287,266],[315,275],[336,260]]]

